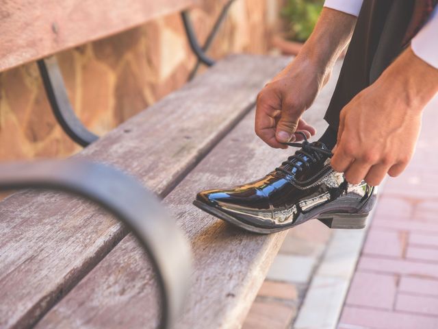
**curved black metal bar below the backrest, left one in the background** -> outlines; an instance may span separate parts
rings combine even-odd
[[[64,132],[76,143],[86,147],[99,136],[90,132],[77,118],[73,107],[68,100],[64,79],[55,56],[38,60],[38,68],[47,93],[53,114],[60,123]]]

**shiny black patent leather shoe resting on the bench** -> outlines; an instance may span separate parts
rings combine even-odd
[[[305,135],[302,134],[305,138]],[[302,147],[264,178],[225,190],[198,193],[195,206],[250,232],[268,234],[319,219],[329,228],[360,229],[376,202],[376,188],[349,184],[330,165],[320,142]]]

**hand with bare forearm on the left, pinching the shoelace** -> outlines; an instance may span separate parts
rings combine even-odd
[[[300,140],[295,132],[307,137],[315,128],[301,119],[329,80],[335,60],[350,41],[356,17],[324,8],[315,29],[302,51],[279,75],[261,90],[257,97],[255,132],[268,145]]]

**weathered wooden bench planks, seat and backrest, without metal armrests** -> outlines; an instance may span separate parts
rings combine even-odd
[[[196,1],[18,3],[2,8],[0,45],[9,47],[0,47],[0,70]],[[38,36],[29,33],[36,30]],[[73,157],[136,177],[164,198],[190,240],[194,269],[177,328],[240,327],[283,241],[284,232],[259,236],[227,226],[194,208],[192,199],[203,188],[257,178],[289,154],[263,146],[250,111],[287,62],[229,56]],[[162,301],[151,260],[99,206],[63,193],[16,193],[0,203],[0,236],[1,328],[158,326]],[[164,250],[168,245],[162,241]]]

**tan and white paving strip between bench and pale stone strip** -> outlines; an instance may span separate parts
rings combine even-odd
[[[331,234],[318,221],[289,230],[243,329],[291,328]]]

